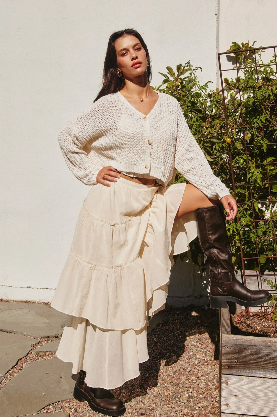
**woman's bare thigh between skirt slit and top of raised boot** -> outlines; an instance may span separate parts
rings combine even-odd
[[[194,185],[187,184],[175,219],[180,219],[184,214],[195,211],[197,208],[214,206],[218,202],[218,199],[212,200],[205,196],[205,194],[198,190]]]

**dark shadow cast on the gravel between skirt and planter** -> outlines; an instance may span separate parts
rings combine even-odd
[[[112,391],[123,402],[144,396],[148,388],[157,386],[161,360],[165,360],[165,366],[176,363],[185,352],[187,337],[208,333],[215,345],[214,359],[219,359],[218,310],[187,306],[166,314],[167,319],[160,322],[148,335],[149,359],[140,364],[140,377],[131,379]]]

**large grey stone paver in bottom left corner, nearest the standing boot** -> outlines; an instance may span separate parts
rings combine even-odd
[[[0,391],[0,417],[35,413],[73,398],[72,364],[58,358],[30,363]]]

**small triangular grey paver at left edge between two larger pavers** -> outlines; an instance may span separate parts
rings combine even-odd
[[[26,356],[36,342],[37,339],[21,334],[0,332],[0,374],[4,375],[15,366],[18,359]]]

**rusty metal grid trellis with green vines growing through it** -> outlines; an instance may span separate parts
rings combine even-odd
[[[262,62],[260,56],[264,50],[272,53],[272,59],[267,64]],[[277,46],[270,46],[218,54],[226,137],[231,141],[229,158],[232,184],[239,207],[237,223],[240,225],[243,280],[247,285],[250,277],[256,277],[261,289],[268,278],[273,278],[276,284],[277,275],[274,272],[277,271],[277,138],[274,133],[277,101],[261,101],[267,97],[263,94],[265,87],[270,90],[270,94],[272,91],[277,92],[274,90],[277,86],[276,51]],[[229,58],[232,65],[222,69],[228,62],[226,58]],[[224,78],[225,74],[232,77],[231,82]],[[248,82],[249,74],[257,82]],[[255,122],[252,118],[249,124],[247,116],[251,111],[257,113],[257,118],[254,118]],[[259,173],[262,173],[262,194],[257,193],[257,185],[261,186],[256,183],[261,181],[261,175],[260,178],[256,175]],[[243,211],[249,213],[249,216],[247,223],[241,224],[240,213]],[[249,256],[249,251],[245,253],[245,247],[248,245],[249,248],[251,244],[253,251],[252,256]],[[245,274],[246,269],[253,269],[253,274]]]

